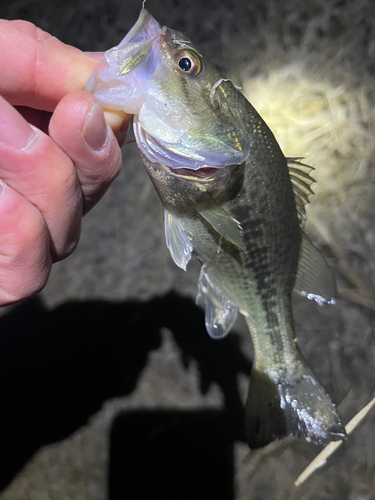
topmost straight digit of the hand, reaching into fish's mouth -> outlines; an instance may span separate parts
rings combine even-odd
[[[27,21],[0,20],[0,94],[14,105],[53,111],[83,89],[98,60]]]

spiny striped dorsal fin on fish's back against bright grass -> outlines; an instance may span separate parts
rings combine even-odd
[[[305,205],[309,203],[310,194],[314,194],[310,186],[315,180],[310,176],[310,172],[315,169],[301,163],[300,160],[302,158],[286,158],[290,180],[293,184],[298,218],[300,226],[303,227],[306,221]]]

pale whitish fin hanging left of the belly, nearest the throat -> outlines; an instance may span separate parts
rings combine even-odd
[[[186,266],[191,258],[193,246],[182,230],[180,221],[168,210],[164,211],[165,241],[172,259],[178,267],[186,271]]]

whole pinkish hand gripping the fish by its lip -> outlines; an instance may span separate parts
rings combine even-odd
[[[130,115],[84,92],[97,58],[0,20],[0,306],[40,291],[118,175]]]

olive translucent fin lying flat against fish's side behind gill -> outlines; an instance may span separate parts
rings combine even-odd
[[[241,250],[245,250],[240,223],[233,219],[208,193],[204,202],[195,208],[217,233]]]

